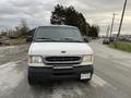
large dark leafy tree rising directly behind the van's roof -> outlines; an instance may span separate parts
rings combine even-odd
[[[78,12],[73,7],[64,8],[59,4],[51,12],[50,23],[55,25],[76,26],[83,36],[87,36],[91,28],[82,13]]]

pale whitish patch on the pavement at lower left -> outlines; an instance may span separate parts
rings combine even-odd
[[[0,96],[10,94],[10,91],[12,91],[11,89],[15,88],[24,78],[24,72],[20,72],[15,69],[17,62],[19,61],[8,62],[0,66]]]

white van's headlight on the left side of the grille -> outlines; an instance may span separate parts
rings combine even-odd
[[[28,57],[28,63],[43,63],[40,56],[31,56]]]

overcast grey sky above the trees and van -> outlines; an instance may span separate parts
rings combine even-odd
[[[112,13],[116,21],[114,32],[118,30],[123,0],[0,0],[0,29],[12,28],[22,19],[31,27],[48,25],[56,4],[73,5],[82,12],[90,24],[100,26],[104,34],[111,24]],[[128,0],[122,33],[131,34],[131,0]]]

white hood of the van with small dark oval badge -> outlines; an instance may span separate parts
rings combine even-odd
[[[81,56],[93,54],[93,50],[85,42],[33,42],[28,54]]]

